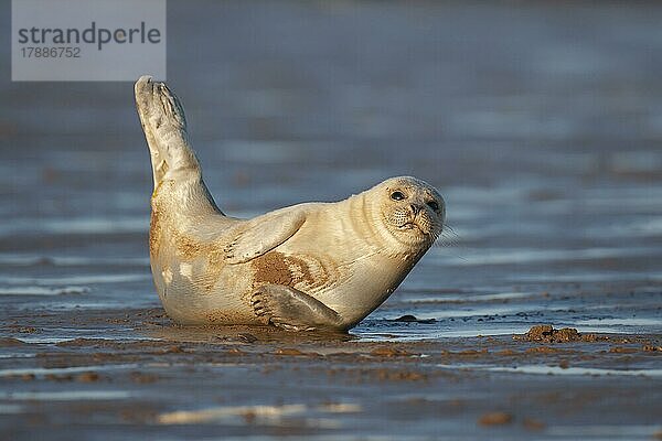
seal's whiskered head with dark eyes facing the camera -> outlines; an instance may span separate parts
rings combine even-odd
[[[367,192],[386,236],[409,249],[426,250],[441,234],[446,204],[437,190],[412,176],[388,179]],[[391,241],[391,240],[389,240]]]

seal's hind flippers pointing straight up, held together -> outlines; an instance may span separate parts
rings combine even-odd
[[[168,173],[170,179],[200,176],[200,163],[189,144],[184,110],[163,83],[141,76],[136,86],[136,107],[147,138],[154,189]]]

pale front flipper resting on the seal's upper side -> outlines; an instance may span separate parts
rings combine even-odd
[[[301,211],[284,209],[255,217],[242,225],[225,246],[229,263],[244,263],[276,248],[292,237],[306,222]]]

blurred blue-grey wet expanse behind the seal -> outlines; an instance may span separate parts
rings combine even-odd
[[[11,83],[10,18],[3,1],[6,314],[158,305],[132,84]],[[445,195],[455,234],[364,337],[403,313],[437,320],[414,337],[523,331],[540,311],[659,331],[661,54],[656,2],[168,2],[168,83],[226,213],[402,174]]]

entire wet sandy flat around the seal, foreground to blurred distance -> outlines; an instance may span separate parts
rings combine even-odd
[[[196,3],[168,74],[226,213],[413,174],[451,229],[349,335],[177,326],[131,85],[2,64],[0,439],[662,437],[661,7]]]

